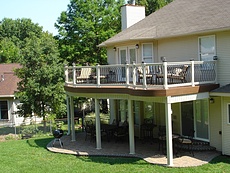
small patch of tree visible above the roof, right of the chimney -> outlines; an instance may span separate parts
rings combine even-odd
[[[145,15],[148,16],[172,1],[173,0],[139,0],[138,4],[145,6]]]

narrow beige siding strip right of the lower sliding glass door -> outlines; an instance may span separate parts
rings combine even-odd
[[[218,151],[222,150],[222,131],[221,127],[221,98],[214,97],[214,103],[209,106],[209,127],[210,127],[210,145],[216,147]]]

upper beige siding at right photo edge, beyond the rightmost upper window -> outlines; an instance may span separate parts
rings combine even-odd
[[[230,31],[216,34],[218,82],[221,86],[230,81]]]

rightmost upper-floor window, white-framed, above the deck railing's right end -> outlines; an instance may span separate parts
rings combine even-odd
[[[216,55],[215,35],[199,37],[199,56],[201,61],[212,61]]]

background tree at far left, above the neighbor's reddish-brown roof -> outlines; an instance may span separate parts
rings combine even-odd
[[[25,39],[32,35],[41,37],[42,27],[30,19],[4,18],[0,21],[0,63],[19,63]]]

